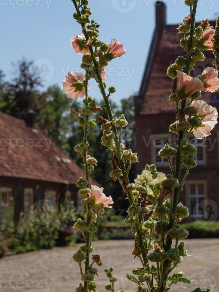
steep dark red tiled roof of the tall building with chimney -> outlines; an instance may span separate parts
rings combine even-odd
[[[199,24],[200,22],[196,26]],[[213,27],[215,24],[215,21],[210,22]],[[137,114],[175,112],[175,106],[169,106],[168,103],[173,79],[167,76],[167,68],[170,63],[175,62],[179,55],[186,55],[184,49],[179,45],[183,35],[177,33],[176,27],[178,24],[165,25],[161,31],[155,29],[139,96],[135,100]],[[206,61],[198,62],[197,68],[198,66],[205,68],[207,63],[212,64],[214,60],[212,51],[205,51],[204,54]],[[200,68],[197,75],[202,72]],[[203,99],[206,102],[209,98],[210,94],[203,94]]]

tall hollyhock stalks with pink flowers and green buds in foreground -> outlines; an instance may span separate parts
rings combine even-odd
[[[73,17],[81,25],[82,34],[72,37],[71,45],[76,53],[82,54],[81,68],[85,70],[85,75],[69,72],[63,81],[63,90],[69,98],[73,99],[85,95],[81,109],[82,116],[74,110],[72,114],[84,130],[82,141],[74,147],[74,150],[79,152],[83,159],[86,177],[79,178],[77,187],[78,194],[81,195],[81,204],[84,204],[87,210],[85,220],[79,218],[74,224],[74,227],[83,234],[85,241],[85,244],[73,255],[73,260],[79,265],[83,281],[76,291],[97,291],[94,282],[94,277],[97,275],[95,265],[101,266],[102,260],[99,254],[93,254],[92,236],[97,232],[95,222],[98,214],[103,214],[104,208],[109,208],[109,205],[113,204],[111,197],[107,198],[103,193],[103,188],[91,186],[89,181],[90,174],[97,166],[97,160],[88,154],[90,146],[88,132],[96,127],[92,113],[102,110],[95,100],[88,96],[88,80],[91,78],[94,78],[100,88],[108,114],[108,119],[99,116],[97,121],[102,124],[102,147],[107,147],[112,153],[112,171],[109,175],[114,181],[119,181],[124,198],[130,203],[125,223],[130,225],[134,238],[132,254],[139,259],[141,267],[133,271],[133,275],[137,278],[130,274],[127,278],[138,284],[139,292],[164,292],[170,290],[171,285],[176,282],[190,283],[182,274],[169,276],[187,255],[182,240],[188,237],[189,232],[181,227],[180,222],[188,217],[189,210],[178,202],[178,198],[190,169],[197,166],[195,160],[197,149],[189,142],[191,133],[193,132],[198,139],[209,136],[217,123],[216,108],[200,100],[201,92],[214,93],[219,87],[217,70],[206,68],[195,78],[190,76],[190,72],[196,62],[205,59],[203,53],[205,50],[214,50],[215,64],[219,65],[219,20],[216,33],[209,26],[207,19],[195,28],[198,1],[185,0],[185,4],[190,6],[190,15],[184,18],[184,23],[178,27],[178,33],[183,35],[180,46],[185,50],[186,58],[179,56],[167,69],[167,75],[173,79],[169,102],[176,107],[176,121],[170,125],[170,132],[178,135],[178,143],[176,147],[166,144],[158,152],[160,157],[169,161],[170,173],[165,175],[158,172],[155,165],[146,164],[135,183],[131,183],[129,172],[133,164],[138,162],[139,157],[137,153],[132,153],[131,149],[126,149],[122,143],[122,130],[128,125],[128,121],[124,114],[114,118],[109,100],[116,89],[110,86],[106,90],[104,70],[110,61],[121,57],[126,51],[115,39],[108,44],[98,38],[100,25],[90,19],[92,11],[88,7],[88,0],[72,0],[72,2],[76,10]],[[183,166],[186,172],[184,178],[180,180]],[[145,220],[147,214],[150,214],[150,217]],[[92,253],[91,260],[90,253]],[[83,262],[85,265],[82,265]],[[113,268],[105,269],[105,272],[110,280],[110,283],[105,285],[105,289],[114,292],[117,278],[112,274]],[[196,291],[201,290],[197,288]]]

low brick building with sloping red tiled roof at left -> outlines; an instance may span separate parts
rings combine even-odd
[[[20,113],[21,119],[0,113],[0,218],[4,219],[9,197],[15,201],[15,219],[36,201],[56,205],[63,197],[77,206],[78,167],[35,124],[35,114]],[[92,181],[94,183],[94,181]]]

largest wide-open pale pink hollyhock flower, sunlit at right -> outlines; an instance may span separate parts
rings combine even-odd
[[[193,129],[195,138],[202,139],[211,135],[211,130],[218,123],[218,111],[215,107],[208,105],[204,100],[197,100],[191,103],[191,106],[195,106],[198,109],[198,114],[204,117],[202,124],[204,127]]]

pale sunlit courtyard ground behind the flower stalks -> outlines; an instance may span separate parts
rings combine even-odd
[[[108,240],[94,242],[95,253],[101,254],[103,265],[98,267],[98,292],[105,291],[107,282],[103,269],[114,267],[118,281],[115,291],[136,291],[136,284],[125,275],[140,267],[138,259],[131,255],[132,240]],[[173,292],[191,292],[200,287],[219,291],[218,246],[219,239],[185,240],[185,246],[192,255],[186,257],[176,272],[184,271],[191,284],[174,285]],[[80,281],[77,264],[72,254],[77,247],[54,248],[26,254],[13,255],[0,260],[0,291],[30,292],[74,292]],[[101,287],[101,288],[100,288]]]

